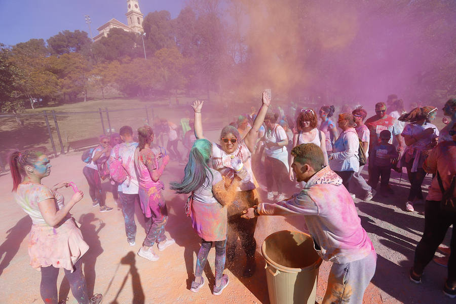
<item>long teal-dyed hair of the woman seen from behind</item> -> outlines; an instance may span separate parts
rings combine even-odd
[[[190,149],[188,163],[184,169],[184,177],[181,182],[172,181],[171,189],[176,193],[191,193],[200,188],[206,180],[209,170],[212,143],[207,139],[198,139]]]

